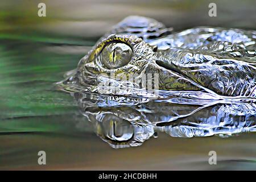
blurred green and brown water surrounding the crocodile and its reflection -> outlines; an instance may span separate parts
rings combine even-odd
[[[105,31],[127,15],[151,16],[176,30],[201,25],[255,30],[254,1],[221,3],[220,14],[213,19],[205,8],[208,2],[200,1],[151,2],[143,7],[133,2],[51,1],[43,20],[35,16],[37,2],[25,1],[19,7],[1,3],[0,169],[256,169],[255,133],[175,138],[157,131],[156,138],[150,130],[152,137],[140,146],[116,150],[101,137],[102,132],[114,131],[89,122],[82,115],[82,103],[54,86],[66,71],[76,68]],[[105,11],[95,13],[104,7]],[[138,114],[136,109],[120,110]],[[125,128],[129,137],[130,126]],[[38,165],[41,150],[47,154],[46,166]],[[217,152],[217,165],[210,166],[212,150]]]

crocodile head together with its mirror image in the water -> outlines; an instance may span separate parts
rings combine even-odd
[[[256,31],[129,16],[57,82],[113,148],[256,130]],[[148,84],[149,83],[149,84]],[[78,125],[82,126],[82,125]]]

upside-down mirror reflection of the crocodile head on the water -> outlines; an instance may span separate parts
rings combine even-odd
[[[109,96],[83,93],[74,96],[96,134],[113,148],[139,146],[159,132],[172,137],[229,137],[256,131],[255,103],[208,106],[146,102],[119,106],[120,101]],[[110,100],[112,107],[102,107],[109,105]]]

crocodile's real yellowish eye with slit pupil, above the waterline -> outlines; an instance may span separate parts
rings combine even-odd
[[[101,52],[101,60],[109,69],[120,68],[129,63],[133,51],[125,43],[110,43]]]

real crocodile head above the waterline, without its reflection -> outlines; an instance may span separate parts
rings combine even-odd
[[[171,34],[154,19],[130,16],[101,38],[59,86],[69,92],[148,96],[141,92],[145,85],[116,77],[141,80],[157,73],[164,94],[183,90],[214,98],[255,98],[255,41],[255,31],[199,27]],[[122,89],[112,92],[102,83]]]

